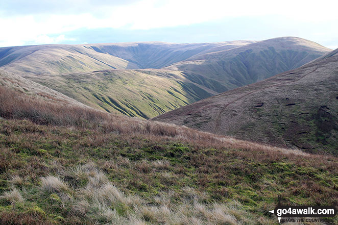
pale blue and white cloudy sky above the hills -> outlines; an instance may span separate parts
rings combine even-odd
[[[296,36],[338,48],[338,1],[0,0],[0,47]]]

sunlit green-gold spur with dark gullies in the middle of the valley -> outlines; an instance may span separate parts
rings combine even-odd
[[[104,70],[43,74],[28,79],[96,109],[151,118],[210,97],[216,92],[168,70]]]

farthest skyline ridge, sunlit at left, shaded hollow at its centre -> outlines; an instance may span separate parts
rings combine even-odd
[[[228,49],[250,43],[202,44],[134,42],[84,45],[33,45],[0,48],[0,67],[18,73],[90,72],[104,69],[160,68],[213,47]]]

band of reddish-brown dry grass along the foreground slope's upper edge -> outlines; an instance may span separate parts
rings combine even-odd
[[[271,160],[287,157],[288,159],[297,162],[301,157],[308,158],[320,165],[322,160],[326,160],[330,164],[330,159],[332,159],[332,156],[311,155],[299,151],[298,149],[286,149],[238,140],[226,136],[192,130],[184,126],[176,126],[175,124],[128,118],[126,116],[112,115],[99,110],[39,101],[25,94],[1,86],[0,116],[8,119],[29,119],[38,124],[65,126],[70,129],[76,127],[78,129],[93,129],[104,133],[146,135],[155,142],[159,139],[163,140],[163,138],[167,138],[183,141],[185,143],[192,143],[199,145],[200,147],[228,147],[241,149],[242,151],[236,152],[240,157],[248,157],[249,155],[250,157],[256,157],[256,155],[259,155],[258,157],[261,158],[261,154],[254,154],[254,152],[258,151],[264,152],[263,157]],[[102,136],[92,138],[98,145],[105,141]],[[335,166],[335,163],[332,163],[332,166]]]

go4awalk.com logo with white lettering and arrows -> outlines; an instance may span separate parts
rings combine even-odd
[[[328,222],[337,214],[334,206],[282,206],[280,196],[274,213],[279,222]]]

